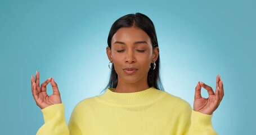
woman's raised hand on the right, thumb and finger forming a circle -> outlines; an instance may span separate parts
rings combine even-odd
[[[201,88],[205,88],[208,91],[209,97],[204,98],[201,96]],[[213,92],[212,87],[207,86],[203,82],[198,82],[195,88],[195,101],[194,111],[198,111],[203,114],[211,115],[215,111],[224,96],[223,81],[220,75],[216,78],[216,89]]]

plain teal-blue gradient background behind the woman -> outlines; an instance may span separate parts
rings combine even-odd
[[[0,1],[0,134],[35,134],[43,125],[30,88],[37,70],[41,82],[58,83],[67,122],[79,101],[100,95],[110,71],[110,27],[136,12],[155,24],[165,91],[192,106],[196,83],[215,89],[221,74],[225,96],[213,115],[215,131],[255,134],[255,7],[255,1]]]

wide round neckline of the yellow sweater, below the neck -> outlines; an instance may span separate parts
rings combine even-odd
[[[164,93],[154,87],[132,93],[118,93],[113,90],[107,88],[103,95],[97,97],[98,100],[111,105],[143,105],[154,102],[163,95],[161,93]]]

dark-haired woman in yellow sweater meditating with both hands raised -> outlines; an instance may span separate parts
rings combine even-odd
[[[149,17],[141,13],[120,17],[107,43],[107,57],[113,63],[107,89],[103,95],[79,102],[69,125],[54,79],[40,87],[39,73],[32,76],[32,93],[45,122],[37,134],[217,134],[211,118],[224,96],[220,76],[215,93],[197,83],[194,110],[181,98],[160,91],[158,40]],[[51,96],[46,93],[48,83]],[[201,97],[201,87],[208,91],[208,98]]]

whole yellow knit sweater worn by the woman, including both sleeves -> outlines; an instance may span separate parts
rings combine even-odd
[[[45,123],[37,134],[217,134],[212,115],[197,113],[181,98],[153,87],[134,93],[106,89],[79,102],[68,125],[63,104],[42,112]]]

